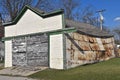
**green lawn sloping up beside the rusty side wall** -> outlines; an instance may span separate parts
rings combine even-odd
[[[120,58],[68,70],[47,69],[29,77],[40,80],[120,80]]]

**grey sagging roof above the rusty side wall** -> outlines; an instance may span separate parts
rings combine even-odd
[[[101,31],[99,28],[93,25],[76,22],[73,20],[66,19],[66,27],[75,27],[78,33],[86,34],[94,37],[113,37],[113,35],[107,33],[104,30]]]

